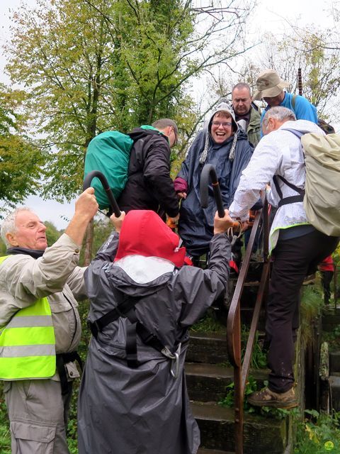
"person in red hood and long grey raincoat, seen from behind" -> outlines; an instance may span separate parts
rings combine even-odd
[[[154,211],[111,216],[86,271],[92,338],[79,392],[79,454],[196,454],[184,361],[188,328],[227,288],[231,218],[215,215],[208,269]]]

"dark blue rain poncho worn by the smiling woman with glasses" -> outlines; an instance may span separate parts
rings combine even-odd
[[[188,253],[194,256],[208,252],[216,212],[211,184],[208,208],[203,209],[200,206],[200,174],[203,169],[203,165],[200,164],[200,155],[205,148],[207,133],[207,129],[198,133],[177,175],[188,183],[186,199],[181,200],[179,236],[181,236]],[[242,170],[248,165],[254,150],[254,147],[248,142],[246,133],[239,129],[237,135],[234,160],[229,160],[233,135],[222,144],[213,142],[212,138],[209,137],[208,156],[204,163],[204,165],[212,164],[215,167],[225,208],[229,208],[232,204]]]

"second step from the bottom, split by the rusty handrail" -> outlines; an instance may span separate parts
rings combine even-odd
[[[186,362],[186,383],[191,400],[201,402],[218,402],[225,397],[228,384],[234,381],[234,371],[231,367],[205,363]],[[249,375],[263,385],[268,371],[251,370]]]

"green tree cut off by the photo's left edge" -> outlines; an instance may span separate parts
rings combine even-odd
[[[25,94],[0,84],[0,198],[1,211],[39,189],[44,157],[26,135],[28,117],[22,113]]]

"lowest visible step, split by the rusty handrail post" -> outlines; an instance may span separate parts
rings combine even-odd
[[[210,450],[234,451],[234,410],[208,402],[191,402],[200,428],[200,444]],[[283,454],[288,444],[288,417],[244,414],[244,453]],[[213,451],[212,451],[213,452]]]

